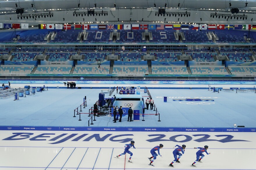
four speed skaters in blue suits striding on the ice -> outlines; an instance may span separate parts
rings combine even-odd
[[[119,155],[116,156],[115,158],[119,158],[120,156],[125,155],[126,153],[129,153],[129,154],[130,154],[130,158],[129,158],[128,162],[132,163],[131,157],[132,157],[133,153],[132,153],[131,151],[129,151],[129,149],[130,149],[131,147],[133,147],[134,149],[136,149],[136,147],[134,147],[134,143],[135,143],[134,140],[132,140],[131,143],[125,144],[125,151],[124,151],[124,153],[119,154]],[[174,151],[173,151],[174,160],[173,160],[173,162],[171,162],[171,163],[169,164],[169,167],[174,167],[174,166],[173,166],[173,163],[174,163],[174,162],[180,163],[179,159],[180,159],[180,157],[185,153],[186,145],[182,145],[182,146],[175,145],[175,147],[177,147],[177,148],[174,149]],[[150,156],[150,157],[148,158],[148,159],[150,160],[150,164],[149,164],[149,165],[154,166],[154,165],[153,165],[153,162],[157,159],[157,156],[158,156],[158,155],[161,156],[161,158],[162,158],[162,155],[160,154],[160,151],[159,151],[161,148],[163,148],[163,144],[160,144],[159,146],[155,146],[155,147],[153,147],[153,148],[150,150],[150,153],[151,153],[152,156]],[[207,145],[205,145],[203,148],[201,148],[201,147],[194,147],[194,149],[199,149],[199,150],[196,152],[196,160],[191,164],[191,167],[196,167],[196,166],[195,166],[195,163],[196,163],[196,162],[201,162],[202,158],[204,158],[204,156],[205,156],[205,155],[203,154],[204,152],[205,152],[207,155],[211,154],[210,152],[209,152],[209,153],[207,152],[207,149],[208,149],[208,146],[207,146]],[[158,152],[158,154],[156,153],[156,151]],[[180,152],[182,152],[182,153],[180,153]],[[177,156],[178,156],[178,157],[177,157]],[[201,162],[201,163],[202,163],[202,162]]]

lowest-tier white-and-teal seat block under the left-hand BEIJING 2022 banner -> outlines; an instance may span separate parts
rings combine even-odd
[[[34,74],[70,74],[72,66],[42,66],[37,67]]]

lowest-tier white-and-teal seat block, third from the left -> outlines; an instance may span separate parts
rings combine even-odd
[[[98,67],[98,65],[95,67],[76,67],[73,74],[109,74],[109,67]]]

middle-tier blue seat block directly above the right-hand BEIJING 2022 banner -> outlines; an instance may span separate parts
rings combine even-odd
[[[204,53],[204,52],[199,52],[199,53],[189,53],[186,52],[186,55],[190,55],[193,60],[198,61],[198,62],[213,62],[215,61],[213,56],[216,56],[216,52],[212,53]]]

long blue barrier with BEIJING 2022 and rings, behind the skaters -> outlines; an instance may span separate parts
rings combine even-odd
[[[0,126],[0,130],[38,130],[38,131],[175,131],[175,132],[256,132],[256,128],[223,127],[57,127],[57,126]]]

